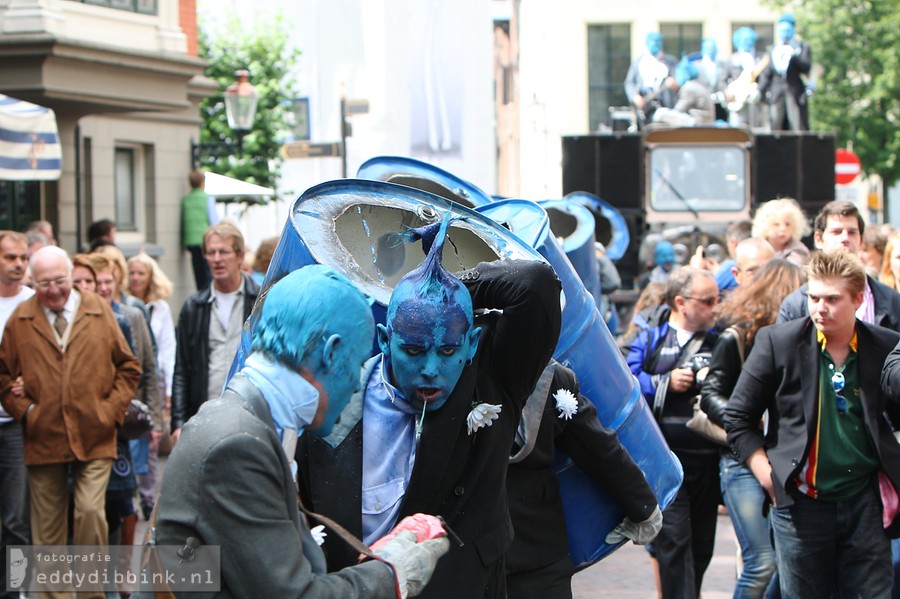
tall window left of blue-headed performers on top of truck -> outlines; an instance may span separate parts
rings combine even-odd
[[[628,106],[622,85],[631,64],[631,26],[588,26],[588,119],[590,131],[609,122],[612,106]]]

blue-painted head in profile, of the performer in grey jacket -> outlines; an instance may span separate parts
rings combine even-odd
[[[318,390],[308,429],[326,436],[360,387],[374,332],[365,296],[337,271],[314,264],[269,288],[251,350],[300,373]]]

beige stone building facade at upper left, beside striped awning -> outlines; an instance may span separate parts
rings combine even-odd
[[[56,112],[62,176],[5,185],[0,226],[49,220],[75,252],[88,225],[116,223],[193,292],[180,235],[199,101],[216,90],[197,57],[193,0],[0,0],[0,92]]]

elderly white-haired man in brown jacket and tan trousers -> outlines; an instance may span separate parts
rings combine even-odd
[[[110,307],[72,289],[72,261],[48,246],[29,263],[36,295],[20,304],[0,343],[0,403],[25,431],[32,540],[65,545],[68,475],[76,545],[105,545],[104,495],[116,427],[141,367]],[[21,376],[24,392],[14,393]]]

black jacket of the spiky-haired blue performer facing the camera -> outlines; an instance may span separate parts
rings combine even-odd
[[[425,417],[398,520],[418,512],[443,516],[465,543],[451,543],[421,597],[505,597],[501,558],[512,541],[506,466],[522,407],[559,336],[560,284],[550,266],[525,261],[479,264],[459,278],[476,310],[503,313],[476,318],[483,331],[472,364],[444,406]],[[351,399],[327,439],[304,435],[297,447],[304,504],[360,537],[362,399],[362,392]],[[502,412],[490,427],[469,435],[466,416],[474,403],[501,405]],[[357,556],[331,536],[325,552],[329,570]]]

